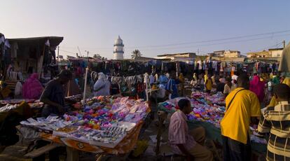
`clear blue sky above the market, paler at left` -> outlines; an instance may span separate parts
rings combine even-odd
[[[6,38],[63,36],[60,55],[113,58],[118,35],[125,58],[177,52],[249,51],[290,41],[288,0],[1,0]]]

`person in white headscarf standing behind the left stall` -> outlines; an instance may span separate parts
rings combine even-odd
[[[94,96],[109,96],[111,83],[106,79],[104,73],[98,74],[97,82],[94,85]]]

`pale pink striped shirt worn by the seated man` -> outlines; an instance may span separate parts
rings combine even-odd
[[[187,151],[191,150],[196,144],[193,137],[188,134],[186,121],[186,115],[179,110],[173,113],[170,118],[168,140],[172,151],[176,154],[182,154],[177,144],[183,144]]]

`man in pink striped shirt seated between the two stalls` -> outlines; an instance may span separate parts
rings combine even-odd
[[[188,160],[213,160],[212,152],[205,146],[205,129],[198,127],[188,132],[186,114],[191,112],[191,102],[181,99],[178,102],[179,109],[170,118],[168,139],[172,151],[176,154],[186,155]]]

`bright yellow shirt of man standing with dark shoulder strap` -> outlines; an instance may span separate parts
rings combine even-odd
[[[226,106],[233,99],[235,93],[242,90],[237,87],[226,97]],[[247,144],[247,135],[251,117],[261,116],[261,107],[258,97],[250,90],[242,90],[237,93],[230,107],[226,109],[225,116],[221,120],[221,134],[235,141]]]

